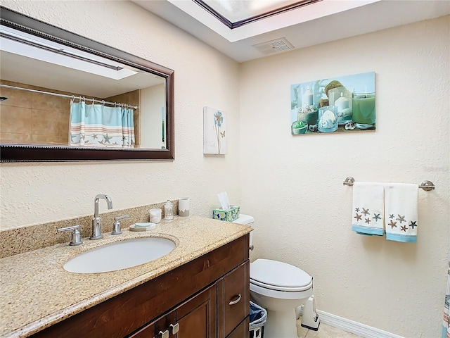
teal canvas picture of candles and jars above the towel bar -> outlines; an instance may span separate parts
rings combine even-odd
[[[290,86],[290,132],[375,130],[375,72]]]

